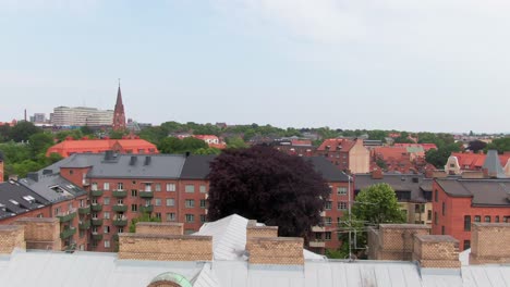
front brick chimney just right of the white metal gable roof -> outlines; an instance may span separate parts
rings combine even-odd
[[[252,238],[246,242],[251,264],[303,265],[303,238]]]

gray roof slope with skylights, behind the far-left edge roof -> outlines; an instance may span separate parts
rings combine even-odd
[[[20,184],[32,189],[34,192],[50,202],[64,201],[87,194],[85,190],[68,182],[59,174],[39,174],[38,177],[34,179],[29,177],[20,179]]]

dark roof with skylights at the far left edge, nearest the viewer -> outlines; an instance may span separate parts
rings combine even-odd
[[[14,180],[0,184],[0,220],[45,207],[49,202]]]

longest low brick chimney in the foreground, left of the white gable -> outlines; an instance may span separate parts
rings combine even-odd
[[[211,236],[119,234],[119,259],[211,261]]]

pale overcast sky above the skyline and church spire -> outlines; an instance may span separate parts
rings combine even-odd
[[[0,121],[510,132],[510,1],[0,0]]]

